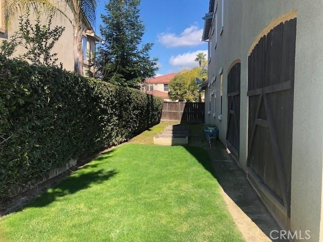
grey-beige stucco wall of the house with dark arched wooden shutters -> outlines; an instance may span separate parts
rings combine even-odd
[[[218,29],[221,29],[222,1],[218,0]],[[323,241],[322,161],[323,161],[323,2],[321,0],[225,0],[224,31],[218,33],[217,49],[212,48],[209,81],[217,76],[216,95],[220,97],[219,70],[223,68],[223,115],[219,120],[208,111],[206,123],[216,124],[225,144],[227,131],[227,75],[236,59],[241,60],[240,164],[246,168],[248,148],[248,51],[268,24],[286,13],[297,11],[293,158],[291,180],[291,227],[310,230],[310,241]],[[213,36],[214,39],[214,36]],[[217,99],[220,110],[220,98]]]

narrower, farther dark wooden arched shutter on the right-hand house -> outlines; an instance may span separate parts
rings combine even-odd
[[[228,74],[228,129],[227,147],[239,157],[240,139],[240,71],[241,64],[235,64]]]

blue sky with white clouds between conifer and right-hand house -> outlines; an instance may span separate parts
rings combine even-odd
[[[199,50],[207,52],[206,42],[200,42],[202,17],[208,11],[208,0],[141,0],[141,19],[146,27],[143,42],[152,42],[151,56],[158,58],[157,74],[178,72],[198,65],[194,56]],[[97,8],[96,31],[105,13],[106,1]]]

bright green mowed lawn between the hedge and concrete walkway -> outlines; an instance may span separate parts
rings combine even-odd
[[[125,144],[0,219],[0,234],[5,241],[242,241],[209,168],[201,148]]]

